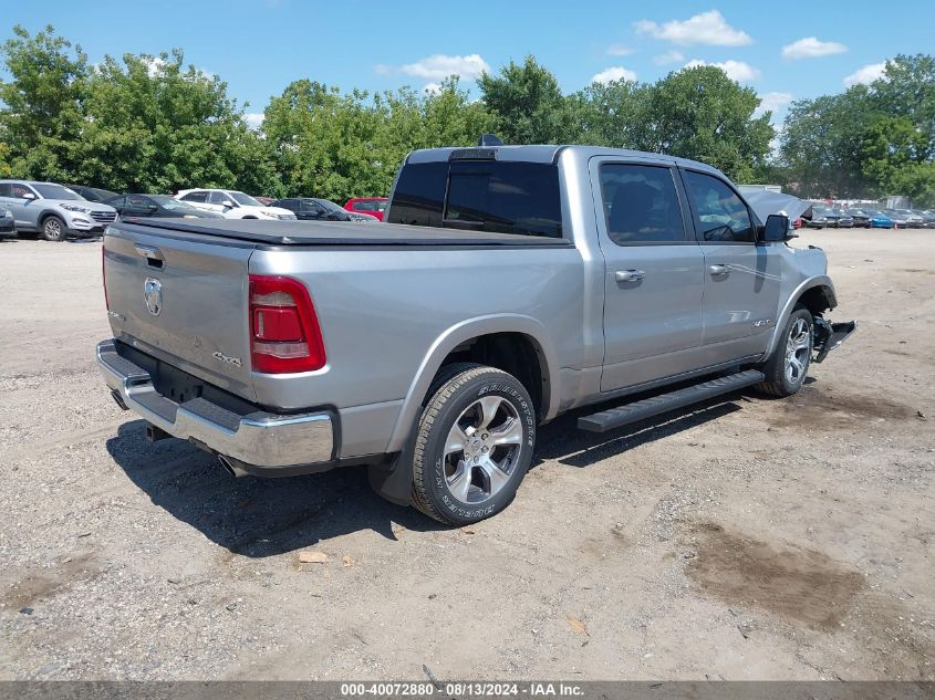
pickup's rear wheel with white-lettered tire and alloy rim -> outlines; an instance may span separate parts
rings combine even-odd
[[[413,440],[413,505],[446,525],[476,523],[516,495],[532,460],[536,409],[512,375],[451,365],[433,383]]]

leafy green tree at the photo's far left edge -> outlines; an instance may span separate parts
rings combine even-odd
[[[0,133],[20,177],[65,178],[85,119],[87,56],[50,25],[31,36],[20,25],[0,46],[11,80],[0,81]]]

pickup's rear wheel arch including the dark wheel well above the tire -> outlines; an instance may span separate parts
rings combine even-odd
[[[475,348],[494,353],[492,362],[482,364],[498,367],[513,362],[517,378],[533,396],[540,420],[554,417],[558,411],[558,362],[544,326],[531,316],[508,314],[480,316],[464,321],[439,335],[429,347],[419,364],[416,376],[409,385],[403,407],[396,419],[389,438],[387,452],[398,452],[405,446],[406,438],[418,418],[418,410],[426,399],[432,380],[447,364],[465,359],[477,361]],[[518,348],[521,357],[511,357],[510,348]],[[499,353],[501,361],[497,361]],[[524,362],[523,362],[524,361]],[[532,365],[534,361],[534,365]],[[515,374],[510,372],[510,374]],[[526,380],[523,380],[523,376]],[[534,379],[533,379],[534,378]],[[529,386],[534,380],[539,386]]]

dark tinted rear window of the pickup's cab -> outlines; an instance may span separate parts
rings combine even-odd
[[[388,220],[561,238],[558,168],[487,160],[407,165],[396,184]]]

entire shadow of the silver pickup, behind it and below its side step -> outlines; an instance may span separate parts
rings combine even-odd
[[[554,459],[583,468],[644,442],[697,427],[736,410],[727,395],[650,418],[604,435],[578,430],[595,410],[572,411],[539,431],[532,468]],[[132,420],[107,440],[107,451],[152,502],[233,554],[266,557],[332,537],[371,530],[396,540],[394,527],[416,532],[446,529],[413,508],[384,501],[370,488],[365,468],[346,467],[282,479],[235,479],[217,459],[188,442],[149,442],[145,421]]]

